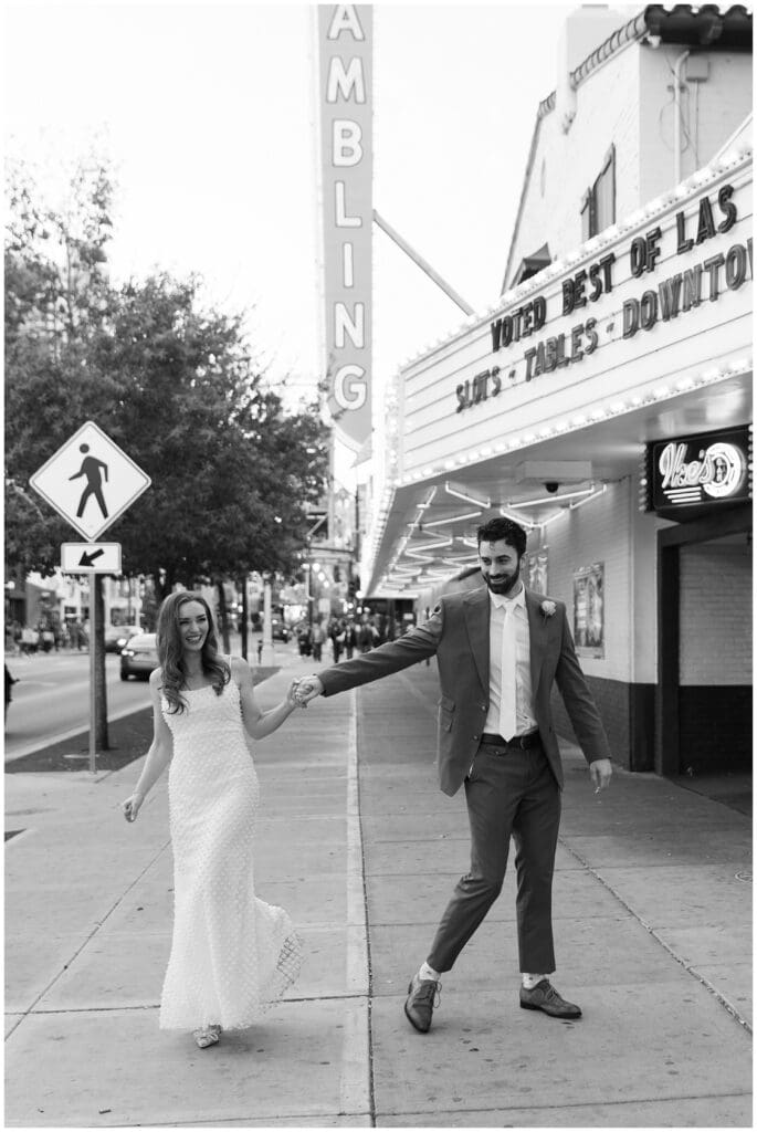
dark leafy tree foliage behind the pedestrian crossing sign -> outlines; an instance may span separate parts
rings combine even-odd
[[[196,277],[107,275],[111,182],[81,170],[52,212],[11,182],[6,241],[7,568],[52,572],[70,526],[28,486],[86,420],[150,477],[107,530],[123,568],[162,591],[198,576],[290,572],[325,486],[317,405],[287,413],[240,316],[204,308]]]

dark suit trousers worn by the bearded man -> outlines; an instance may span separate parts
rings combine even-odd
[[[428,963],[451,969],[499,895],[515,842],[518,959],[522,971],[554,970],[552,874],[560,825],[560,789],[536,745],[481,744],[465,779],[471,823],[471,871],[457,883],[441,918]]]

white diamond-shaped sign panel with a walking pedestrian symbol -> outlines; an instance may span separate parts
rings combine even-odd
[[[29,483],[89,542],[127,511],[150,484],[94,421],[67,440]]]

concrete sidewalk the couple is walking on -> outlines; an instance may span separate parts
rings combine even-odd
[[[309,671],[257,689],[264,706]],[[299,985],[199,1050],[157,1029],[171,931],[165,784],[140,763],[6,777],[10,1126],[751,1126],[751,823],[651,775],[594,795],[565,749],[554,981],[584,1018],[518,1009],[514,883],[444,979],[402,1005],[467,868],[438,790],[435,666],[320,700],[255,749],[260,895],[300,927]]]

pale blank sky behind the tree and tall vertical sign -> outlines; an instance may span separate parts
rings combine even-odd
[[[373,6],[373,205],[475,310],[500,293],[573,7]],[[117,171],[114,277],[199,273],[295,393],[322,369],[312,24],[287,2],[5,3],[7,157],[54,199],[94,142]],[[376,229],[373,256],[380,381],[464,316]]]

